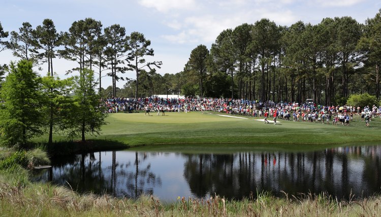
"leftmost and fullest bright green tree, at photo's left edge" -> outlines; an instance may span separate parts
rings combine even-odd
[[[31,137],[42,134],[40,80],[30,61],[11,63],[0,92],[5,101],[0,110],[0,136],[4,143],[23,145]]]

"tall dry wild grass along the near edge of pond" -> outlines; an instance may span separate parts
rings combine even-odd
[[[325,194],[275,198],[260,193],[241,201],[218,196],[207,200],[178,198],[175,202],[142,196],[138,200],[107,195],[79,195],[49,184],[14,186],[0,182],[2,216],[381,216],[381,198],[338,201]]]

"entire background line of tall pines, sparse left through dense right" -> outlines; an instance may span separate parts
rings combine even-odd
[[[118,24],[102,29],[101,22],[91,18],[60,33],[50,19],[35,29],[25,22],[19,32],[10,33],[9,41],[0,43],[35,65],[48,63],[50,73],[56,56],[77,62],[72,71],[93,69],[103,97],[182,94],[344,104],[354,93],[379,100],[380,14],[365,24],[352,17],[324,18],[315,25],[298,21],[281,26],[269,19],[244,23],[220,32],[210,49],[197,46],[182,71],[163,76],[156,73],[161,61],[144,59],[153,56],[153,49],[142,33],[126,35]],[[0,37],[7,38],[8,32],[0,28]],[[123,77],[128,70],[136,79]],[[112,78],[112,86],[105,89],[104,76]],[[125,81],[122,88],[116,86],[119,80]]]

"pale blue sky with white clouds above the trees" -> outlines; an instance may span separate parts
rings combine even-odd
[[[147,59],[162,61],[156,72],[164,75],[182,71],[198,45],[210,49],[221,31],[243,23],[268,18],[277,25],[290,26],[299,20],[317,24],[326,17],[343,16],[365,23],[380,8],[379,0],[1,0],[0,22],[9,32],[18,31],[23,22],[35,28],[46,18],[54,22],[57,31],[68,31],[74,21],[87,17],[101,21],[104,28],[120,24],[126,34],[138,31],[151,41],[154,57]],[[16,60],[11,51],[0,52],[0,64]],[[74,62],[53,60],[60,78],[73,67]],[[42,68],[39,73],[44,76],[47,66]],[[123,77],[136,78],[132,71]],[[111,83],[108,77],[102,79],[104,88]],[[119,81],[117,86],[124,84]]]

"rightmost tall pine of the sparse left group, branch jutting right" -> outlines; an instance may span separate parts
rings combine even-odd
[[[152,66],[160,68],[161,61],[146,62],[145,56],[153,56],[153,49],[148,48],[151,45],[151,41],[146,40],[144,34],[140,32],[132,32],[128,38],[128,50],[127,60],[129,61],[128,70],[135,71],[136,73],[136,86],[135,86],[135,98],[139,94],[139,75],[143,68],[149,68],[152,70]]]

